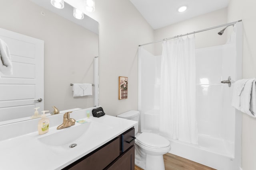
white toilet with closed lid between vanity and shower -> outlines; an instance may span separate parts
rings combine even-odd
[[[117,117],[139,121],[139,111],[130,110]],[[164,170],[163,154],[171,150],[170,142],[154,133],[138,133],[138,124],[135,128],[135,164],[144,170]]]

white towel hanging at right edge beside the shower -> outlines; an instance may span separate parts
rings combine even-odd
[[[236,109],[256,117],[256,79],[242,79],[234,83],[232,104]]]

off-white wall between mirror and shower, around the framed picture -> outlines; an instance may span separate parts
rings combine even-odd
[[[153,29],[129,0],[96,0],[87,14],[100,23],[100,105],[108,115],[138,109],[138,45],[154,40]],[[118,76],[128,77],[128,99],[118,100]]]

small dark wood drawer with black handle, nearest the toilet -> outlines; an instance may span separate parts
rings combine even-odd
[[[135,132],[135,129],[132,128],[121,135],[122,136],[122,152],[125,152],[128,148],[134,145],[134,140],[136,139],[134,132]]]

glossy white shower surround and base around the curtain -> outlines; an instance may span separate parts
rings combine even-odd
[[[161,56],[139,48],[140,130],[159,134]],[[221,83],[229,76],[230,87]],[[231,101],[232,82],[241,78],[242,22],[235,24],[226,44],[196,49],[198,145],[168,138],[170,153],[218,170],[239,169],[242,115]],[[149,122],[149,117],[155,121]]]

